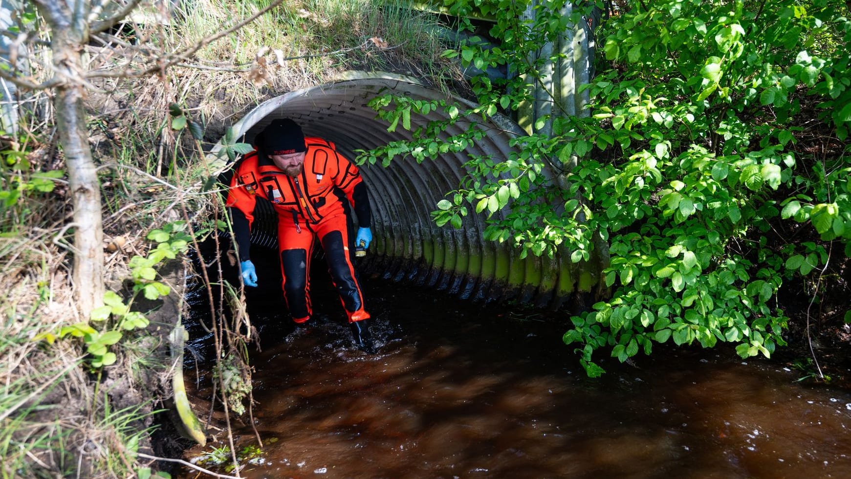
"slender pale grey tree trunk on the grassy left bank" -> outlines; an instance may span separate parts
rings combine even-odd
[[[85,87],[80,78],[84,71],[80,51],[87,32],[70,25],[53,25],[52,30],[54,66],[57,73],[66,78],[66,83],[55,90],[54,106],[73,195],[74,295],[80,312],[88,319],[89,313],[103,304],[104,254],[100,181],[89,146],[83,107]]]

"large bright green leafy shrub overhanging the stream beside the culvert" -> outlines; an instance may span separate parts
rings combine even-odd
[[[502,48],[465,43],[462,62],[508,65],[517,76],[474,78],[480,105],[460,117],[529,100],[527,79],[540,82],[541,62],[558,54],[528,59],[565,26],[563,2],[540,3],[531,20],[518,18],[524,3],[462,0],[451,8],[463,15],[474,3],[494,16],[489,33]],[[776,299],[784,280],[851,255],[847,17],[837,0],[626,2],[598,32],[605,61],[585,86],[591,117],[557,117],[547,134],[537,124],[514,140],[511,157],[472,158],[471,177],[434,215],[454,225],[466,204],[476,213],[507,205],[511,214],[494,218],[486,236],[523,254],[580,261],[598,239],[608,242],[611,297],[571,317],[564,334],[591,376],[603,373],[592,361],[598,349],[622,362],[668,340],[727,341],[739,343],[740,356],[769,356],[785,344],[788,317]],[[420,108],[381,104],[390,106],[381,115],[403,122]],[[441,151],[427,145],[437,128],[365,159],[435,157]],[[475,140],[475,130],[447,148]],[[566,186],[545,183],[544,167],[563,171]],[[795,242],[789,231],[812,238]]]

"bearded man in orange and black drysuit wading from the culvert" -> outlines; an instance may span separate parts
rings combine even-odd
[[[368,248],[372,241],[369,198],[357,167],[333,143],[305,138],[293,120],[276,119],[258,135],[254,151],[237,163],[230,186],[227,206],[245,284],[257,286],[249,257],[254,208],[258,201],[269,201],[277,213],[283,295],[293,321],[304,325],[311,318],[311,250],[318,238],[355,344],[374,352],[369,313],[351,260],[356,244]],[[357,214],[357,236],[352,235],[350,203]]]

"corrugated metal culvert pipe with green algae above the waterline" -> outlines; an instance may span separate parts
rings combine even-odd
[[[388,132],[388,123],[368,106],[369,100],[387,93],[417,100],[446,99],[445,94],[425,88],[411,78],[351,72],[340,81],[268,100],[233,128],[237,137],[244,135],[244,141],[251,143],[271,120],[292,118],[306,135],[333,141],[340,153],[353,159],[357,149],[369,150],[392,140],[410,138],[410,132],[402,128]],[[441,114],[441,111],[433,111],[426,117],[412,114],[412,128]],[[466,126],[462,122],[448,128],[442,139],[461,133]],[[488,134],[460,153],[447,153],[421,164],[405,159],[394,161],[388,168],[362,167],[374,215],[374,242],[364,262],[365,272],[448,290],[464,299],[516,299],[550,307],[563,305],[574,293],[595,291],[605,259],[592,257],[589,263],[580,265],[572,264],[567,255],[556,259],[529,255],[519,259],[518,252],[507,244],[483,240],[483,214],[465,217],[460,230],[448,225],[439,228],[431,221],[430,212],[437,208],[437,202],[465,177],[463,164],[471,155],[505,158],[511,151],[509,140],[523,134],[516,123],[504,117],[495,118],[486,126]],[[225,160],[218,159],[220,148],[216,145],[210,154],[211,158],[217,158],[212,162],[218,169],[226,166]]]

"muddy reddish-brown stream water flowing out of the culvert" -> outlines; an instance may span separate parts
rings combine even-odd
[[[243,476],[851,477],[851,391],[805,385],[783,362],[660,347],[635,366],[601,355],[608,373],[588,379],[543,313],[380,280],[365,289],[374,356],[352,347],[333,294],[295,332],[262,299],[274,289],[249,296],[265,444]],[[237,450],[256,444],[251,425],[234,433]],[[217,437],[184,459],[226,444]]]

